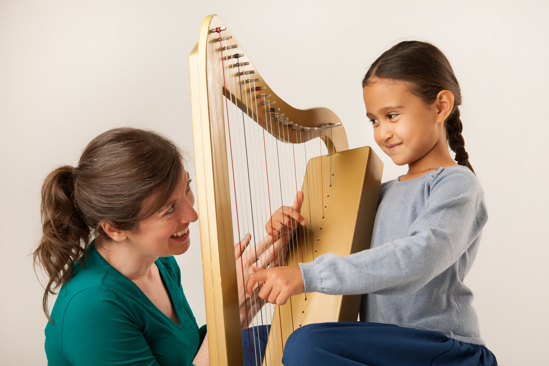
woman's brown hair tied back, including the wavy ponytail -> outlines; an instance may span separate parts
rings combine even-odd
[[[77,167],[59,166],[48,174],[40,206],[42,239],[33,258],[49,278],[42,308],[50,322],[48,295],[69,281],[75,262],[85,265],[92,237],[111,240],[101,224],[136,230],[165,204],[182,174],[175,143],[131,127],[103,132],[82,151]],[[151,197],[155,201],[149,205]]]

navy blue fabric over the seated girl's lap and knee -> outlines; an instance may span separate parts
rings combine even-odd
[[[249,357],[248,357],[249,358]],[[288,338],[284,366],[497,366],[485,346],[383,323],[320,323]]]

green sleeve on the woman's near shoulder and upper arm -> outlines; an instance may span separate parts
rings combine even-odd
[[[76,294],[62,327],[61,350],[74,366],[159,366],[136,320],[108,289]]]

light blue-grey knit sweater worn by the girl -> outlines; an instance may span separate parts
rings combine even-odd
[[[368,294],[361,320],[484,345],[463,284],[488,219],[483,196],[477,177],[459,165],[383,183],[371,249],[300,263],[305,292]]]

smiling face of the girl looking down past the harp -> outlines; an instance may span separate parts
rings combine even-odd
[[[363,96],[374,139],[396,165],[421,159],[441,140],[446,144],[438,103],[426,106],[407,82],[374,78]]]

